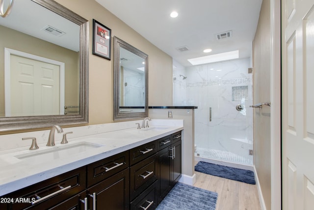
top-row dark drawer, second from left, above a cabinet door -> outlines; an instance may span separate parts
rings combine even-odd
[[[87,165],[87,187],[129,167],[129,151]]]

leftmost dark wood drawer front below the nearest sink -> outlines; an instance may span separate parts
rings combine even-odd
[[[43,210],[65,201],[85,188],[86,167],[81,167],[3,197],[24,199],[25,203],[12,204],[11,210]]]

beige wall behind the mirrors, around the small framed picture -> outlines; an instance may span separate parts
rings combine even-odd
[[[119,37],[148,55],[149,105],[172,105],[172,58],[169,55],[144,39],[95,0],[56,1],[90,23],[89,124],[113,121],[113,45],[111,44],[110,61],[92,55],[93,19],[111,29],[112,36]],[[147,29],[152,30],[153,27],[147,26]]]

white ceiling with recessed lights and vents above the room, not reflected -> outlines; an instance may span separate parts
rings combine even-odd
[[[262,0],[96,0],[183,66],[187,59],[239,50],[252,53]],[[176,10],[177,18],[170,13]],[[106,23],[103,23],[106,24]],[[215,34],[232,30],[232,37]],[[130,43],[131,44],[131,43]],[[187,46],[188,51],[176,48]],[[210,53],[203,53],[206,48]]]

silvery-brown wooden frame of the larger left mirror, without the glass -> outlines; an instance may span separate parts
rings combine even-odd
[[[0,131],[48,128],[88,123],[89,22],[53,0],[32,0],[79,26],[79,98],[78,114],[24,117],[0,117]],[[14,10],[14,5],[12,10]]]

